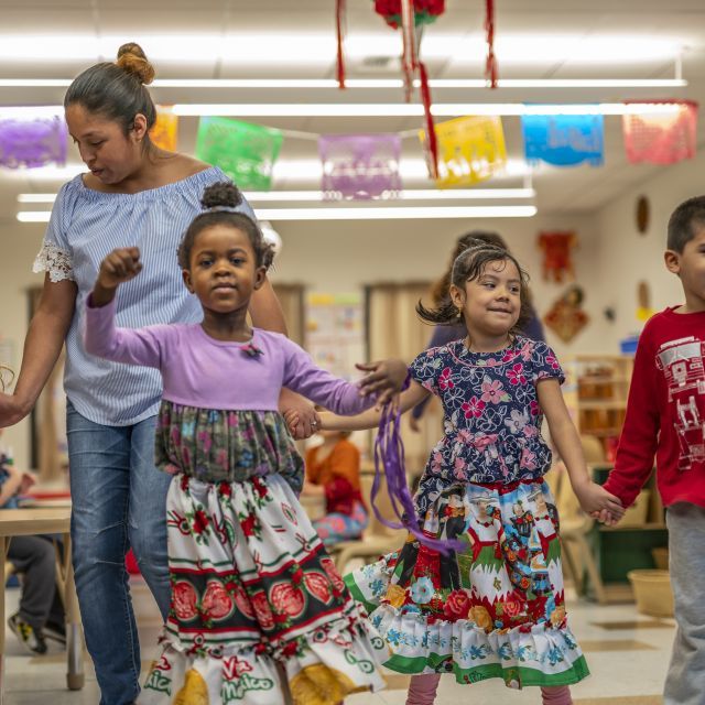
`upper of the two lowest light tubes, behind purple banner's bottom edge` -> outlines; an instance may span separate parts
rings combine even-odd
[[[250,203],[271,202],[329,202],[322,191],[246,191]],[[494,200],[508,198],[533,198],[533,188],[409,188],[391,196],[390,200]],[[56,194],[19,194],[18,203],[54,203]]]

